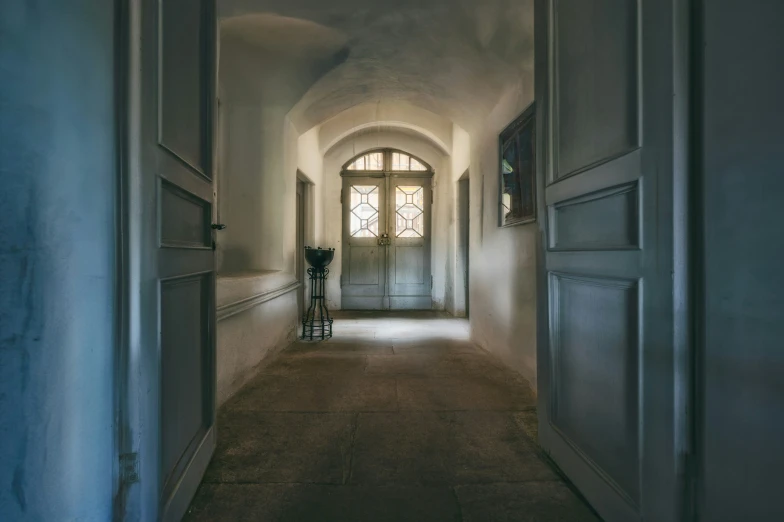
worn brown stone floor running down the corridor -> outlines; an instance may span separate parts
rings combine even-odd
[[[598,520],[534,442],[528,383],[466,321],[336,317],[221,409],[185,520]]]

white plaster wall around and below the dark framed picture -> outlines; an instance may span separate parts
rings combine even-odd
[[[472,338],[536,389],[537,226],[498,227],[498,135],[533,101],[532,80],[513,86],[471,136],[470,323]]]

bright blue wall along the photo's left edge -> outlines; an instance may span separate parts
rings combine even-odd
[[[0,1],[0,519],[110,520],[114,2]]]

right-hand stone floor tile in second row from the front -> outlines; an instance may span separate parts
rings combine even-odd
[[[499,412],[361,414],[351,483],[558,480],[512,416]]]

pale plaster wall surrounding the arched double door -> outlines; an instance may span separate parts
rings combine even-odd
[[[450,186],[451,160],[445,151],[435,143],[421,135],[401,132],[395,129],[382,129],[380,132],[363,130],[359,134],[345,138],[327,151],[324,157],[324,241],[322,247],[335,248],[335,260],[330,265],[330,277],[327,280],[327,304],[331,309],[341,308],[340,275],[342,272],[342,215],[340,205],[340,189],[342,178],[340,171],[351,158],[375,148],[390,147],[400,149],[417,156],[430,164],[435,170],[434,181],[438,193],[434,192],[436,205],[433,208],[432,268],[433,268],[433,305],[436,309],[444,309],[447,301],[447,256],[449,251],[449,234],[442,230],[448,227],[449,212],[441,210],[441,205],[448,208],[446,199],[441,200],[440,191]]]

